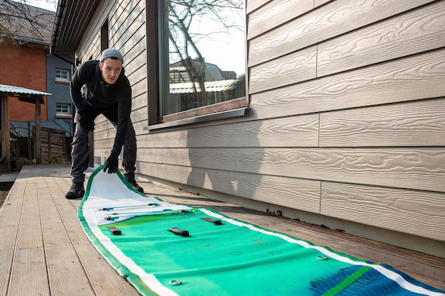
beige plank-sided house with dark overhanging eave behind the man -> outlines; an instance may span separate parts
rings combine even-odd
[[[164,1],[63,3],[53,52],[124,53],[139,174],[445,258],[445,1],[246,0],[247,96],[172,114]]]

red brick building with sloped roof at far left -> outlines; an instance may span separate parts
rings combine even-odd
[[[0,84],[47,92],[46,55],[55,13],[5,0],[0,8],[9,15],[0,19]],[[34,104],[10,99],[9,108],[11,121],[36,119]],[[41,119],[47,120],[45,107]]]

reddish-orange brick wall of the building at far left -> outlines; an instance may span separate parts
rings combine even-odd
[[[46,50],[39,46],[0,45],[0,84],[26,87],[46,92]],[[47,120],[46,97],[41,105],[41,120]],[[36,105],[9,99],[9,119],[28,121],[36,119]]]

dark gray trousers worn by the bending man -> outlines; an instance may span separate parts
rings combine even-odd
[[[106,109],[95,109],[87,106],[88,113],[94,120],[99,114],[103,114],[114,127],[117,126],[117,106]],[[85,182],[85,170],[88,168],[90,153],[88,150],[88,133],[86,133],[79,123],[79,114],[75,113],[75,133],[72,143],[71,157],[71,179],[73,182]],[[136,170],[136,133],[134,132],[132,121],[129,121],[127,134],[124,142],[122,166],[124,168],[124,176],[127,180],[134,180],[134,171]]]

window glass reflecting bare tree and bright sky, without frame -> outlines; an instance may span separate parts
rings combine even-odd
[[[245,38],[238,38],[239,44],[232,45],[235,36],[244,36],[244,1],[166,3],[168,99],[164,100],[161,113],[172,114],[244,97]],[[227,55],[230,50],[233,53]],[[237,69],[242,70],[227,69],[234,67],[230,62],[233,65],[235,60],[240,60]]]

